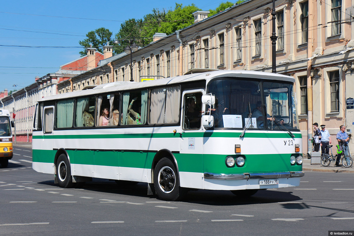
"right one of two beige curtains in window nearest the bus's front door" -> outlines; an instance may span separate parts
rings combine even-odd
[[[181,88],[172,86],[166,88],[165,123],[176,123],[179,119]]]

